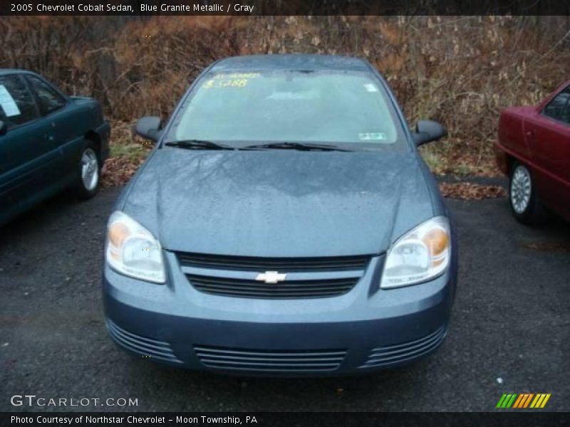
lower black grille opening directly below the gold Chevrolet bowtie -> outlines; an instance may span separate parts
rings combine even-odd
[[[351,290],[358,282],[358,278],[340,278],[263,283],[258,280],[228,279],[191,274],[188,274],[187,278],[194,288],[209,294],[272,299],[336,297]]]

